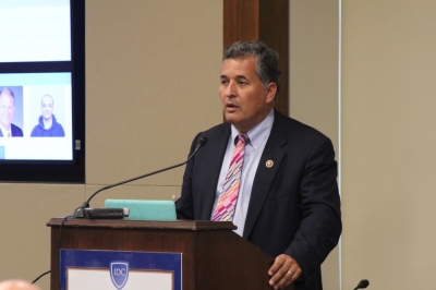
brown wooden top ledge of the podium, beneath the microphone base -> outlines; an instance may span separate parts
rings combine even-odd
[[[48,227],[60,227],[64,217],[53,217],[48,222]],[[85,219],[68,218],[62,227],[90,227],[90,228],[142,228],[142,229],[167,229],[167,230],[234,230],[231,221],[210,221],[210,220],[183,220],[174,221],[154,221],[154,220],[124,220],[124,219]]]

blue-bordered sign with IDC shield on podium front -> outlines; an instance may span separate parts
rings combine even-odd
[[[182,254],[61,250],[62,290],[181,290]]]

